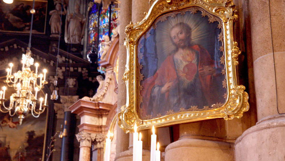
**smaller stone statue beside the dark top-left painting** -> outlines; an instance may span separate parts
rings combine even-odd
[[[66,15],[66,9],[65,5],[63,5],[63,15]],[[60,24],[60,14],[61,14],[61,4],[56,3],[55,10],[50,11],[49,13],[51,15],[50,17],[50,30],[51,34],[59,34],[60,32],[60,27],[62,24]]]

